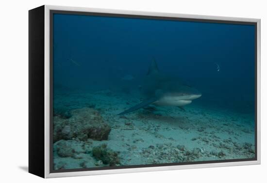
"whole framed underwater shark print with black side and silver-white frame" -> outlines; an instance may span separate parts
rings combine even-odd
[[[29,11],[29,172],[260,163],[260,20]]]

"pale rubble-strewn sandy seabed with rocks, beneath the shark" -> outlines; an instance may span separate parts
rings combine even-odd
[[[255,156],[251,115],[201,107],[194,102],[185,111],[178,107],[147,107],[117,115],[138,103],[137,95],[133,98],[108,90],[55,94],[54,169]]]

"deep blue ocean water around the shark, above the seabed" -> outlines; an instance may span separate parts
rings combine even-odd
[[[180,116],[190,118],[196,108],[201,114],[209,111],[211,116],[221,117],[224,112],[235,119],[231,122],[239,124],[242,120],[238,116],[244,115],[250,124],[247,140],[254,145],[254,43],[254,25],[54,14],[54,112],[95,105],[100,114],[103,108],[116,108],[116,116],[117,111],[124,110],[117,108],[118,101],[138,98],[139,83],[154,59],[161,73],[181,78],[202,94],[185,106],[186,115],[180,112]],[[90,102],[93,95],[90,98],[87,93],[100,91],[109,91],[105,97],[116,97],[106,106],[98,104],[96,98]],[[222,121],[228,124],[227,119]],[[240,125],[244,129],[244,124]]]

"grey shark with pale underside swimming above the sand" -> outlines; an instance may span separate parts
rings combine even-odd
[[[180,79],[161,74],[155,59],[151,61],[149,71],[143,79],[143,85],[139,88],[145,100],[118,115],[133,112],[150,104],[182,107],[191,104],[192,100],[201,96],[197,89],[184,84]]]

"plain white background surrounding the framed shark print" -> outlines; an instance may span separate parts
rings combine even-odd
[[[43,4],[262,19],[262,165],[43,180],[28,166],[28,10]],[[266,0],[2,0],[0,2],[0,182],[252,183],[267,181]],[[264,114],[265,111],[265,114]]]

